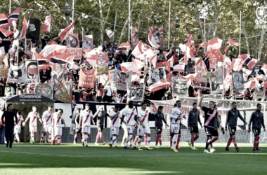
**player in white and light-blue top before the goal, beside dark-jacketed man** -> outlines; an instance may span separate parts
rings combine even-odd
[[[181,110],[181,101],[177,100],[176,101],[176,107],[174,109],[172,109],[171,112],[169,113],[169,118],[171,121],[171,138],[172,138],[171,139],[171,149],[174,152],[178,152],[176,150],[176,144],[177,144],[178,132],[180,130],[180,122],[181,122],[182,117],[185,118],[185,116],[183,116],[182,110]]]

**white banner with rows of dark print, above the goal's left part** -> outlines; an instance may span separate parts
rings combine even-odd
[[[188,80],[187,78],[183,78],[183,77],[175,77],[172,76],[171,77],[171,83],[173,83],[172,85],[172,94],[175,96],[181,96],[181,97],[186,97],[188,96]]]

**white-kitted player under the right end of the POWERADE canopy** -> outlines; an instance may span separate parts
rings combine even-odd
[[[47,139],[47,134],[48,134],[48,142],[51,142],[51,132],[52,132],[52,118],[53,118],[53,106],[49,105],[48,110],[44,111],[42,120],[43,120],[43,131],[41,133],[41,141],[40,144],[43,144],[43,139],[44,136],[46,136]]]

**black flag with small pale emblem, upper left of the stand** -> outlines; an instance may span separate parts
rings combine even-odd
[[[35,18],[30,18],[27,24],[26,38],[33,41],[39,41],[41,21]]]

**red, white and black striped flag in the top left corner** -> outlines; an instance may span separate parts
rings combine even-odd
[[[20,8],[13,10],[13,12],[7,16],[5,14],[0,14],[0,29],[6,29],[8,26],[12,26],[12,22],[17,22],[19,15]]]

